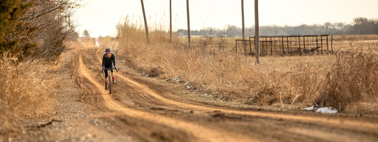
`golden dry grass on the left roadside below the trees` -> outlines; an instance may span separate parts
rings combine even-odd
[[[53,82],[57,80],[46,77],[50,65],[38,61],[18,62],[6,53],[0,57],[0,136],[4,136],[11,131],[23,131],[21,120],[52,113]]]

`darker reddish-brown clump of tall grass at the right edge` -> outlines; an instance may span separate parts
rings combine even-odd
[[[319,102],[347,111],[378,111],[377,50],[338,53]],[[368,109],[368,110],[364,110]]]

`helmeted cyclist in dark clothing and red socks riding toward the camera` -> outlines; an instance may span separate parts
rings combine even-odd
[[[105,54],[104,56],[102,57],[102,70],[104,70],[104,68],[117,68],[116,67],[116,56],[111,53],[111,50],[109,48],[106,48],[105,50]],[[108,70],[104,70],[105,71],[105,89],[107,90],[108,89]],[[111,71],[111,76],[113,78],[113,84],[116,84],[116,81],[114,80],[114,72],[113,72],[113,69],[110,70]],[[110,82],[109,82],[110,83]]]

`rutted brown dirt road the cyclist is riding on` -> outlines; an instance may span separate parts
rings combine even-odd
[[[100,74],[101,51],[64,53],[62,83],[67,87],[57,93],[56,115],[26,126],[23,135],[10,140],[378,141],[376,118],[216,107],[175,94],[122,62],[109,94]]]

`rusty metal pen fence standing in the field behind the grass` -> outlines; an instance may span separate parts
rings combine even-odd
[[[262,35],[260,55],[323,55],[333,53],[333,35]],[[255,55],[255,36],[249,40],[235,40],[232,51]]]

